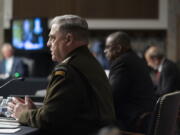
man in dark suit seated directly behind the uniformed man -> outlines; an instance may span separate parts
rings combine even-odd
[[[130,38],[124,32],[107,37],[105,54],[110,61],[109,81],[120,128],[145,132],[145,127],[137,129],[137,121],[151,112],[154,105],[153,84],[147,66],[131,49]],[[147,123],[142,125],[148,126]]]

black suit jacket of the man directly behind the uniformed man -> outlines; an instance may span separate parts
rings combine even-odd
[[[120,128],[134,131],[137,118],[144,112],[151,112],[154,105],[155,90],[148,68],[130,50],[111,63],[109,80]]]

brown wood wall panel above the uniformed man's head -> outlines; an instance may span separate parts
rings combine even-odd
[[[158,0],[14,0],[13,17],[54,17],[77,14],[86,18],[157,19]]]

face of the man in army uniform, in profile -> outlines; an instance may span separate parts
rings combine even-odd
[[[52,25],[47,46],[50,48],[53,61],[61,62],[64,60],[66,53],[65,35],[59,31],[59,25]]]

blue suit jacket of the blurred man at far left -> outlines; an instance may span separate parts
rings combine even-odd
[[[0,62],[0,74],[5,74],[6,73],[5,71],[6,71],[6,69],[5,69],[5,59],[3,59]],[[11,72],[10,72],[10,76],[14,76],[14,74],[16,72],[20,73],[22,76],[25,74],[24,63],[18,57],[13,58],[13,65],[12,65],[12,69],[11,69]]]

